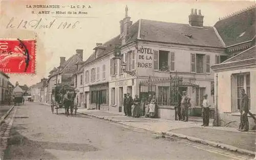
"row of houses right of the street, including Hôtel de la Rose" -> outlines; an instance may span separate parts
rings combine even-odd
[[[126,7],[120,34],[96,43],[86,61],[81,49],[67,61],[60,57],[60,65],[40,88],[39,100],[49,103],[54,85],[68,84],[78,92],[80,108],[123,112],[123,95],[140,95],[140,83],[148,77],[180,76],[179,90],[187,91],[193,108],[200,108],[203,94],[208,94],[222,122],[231,122],[239,118],[238,89],[244,88],[255,114],[255,6],[214,26],[203,25],[201,10],[191,9],[188,19],[187,24],[147,19],[133,23]],[[158,100],[159,118],[174,119],[174,106],[168,103],[170,86],[153,85],[151,91]]]

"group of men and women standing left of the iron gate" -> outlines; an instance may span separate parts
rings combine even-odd
[[[124,114],[125,116],[133,117],[150,117],[155,118],[157,113],[157,100],[156,96],[148,95],[146,98],[145,95],[140,99],[138,95],[135,95],[133,99],[130,93],[124,94]]]

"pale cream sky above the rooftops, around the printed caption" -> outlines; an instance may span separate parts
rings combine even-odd
[[[59,65],[59,57],[66,60],[75,54],[76,49],[83,49],[83,61],[92,54],[96,43],[104,43],[119,35],[119,21],[124,18],[125,6],[129,8],[128,15],[136,22],[138,19],[150,19],[174,23],[188,23],[190,10],[201,9],[204,15],[204,25],[213,26],[219,17],[227,16],[248,6],[254,1],[1,1],[0,12],[0,38],[22,35],[34,38],[36,35],[36,74],[10,76],[10,82],[28,86],[36,84],[43,77],[48,77],[53,67]],[[60,9],[50,9],[51,12],[79,11],[88,12],[87,15],[74,15],[76,17],[53,17],[54,15],[36,15],[32,11],[48,11],[49,9],[28,8],[29,5],[60,5]],[[72,9],[72,6],[84,5],[87,9]],[[59,15],[57,15],[59,16]],[[77,17],[87,18],[77,18]],[[15,23],[20,20],[34,20],[42,18],[42,24],[49,24],[55,19],[50,29],[6,29],[10,19],[14,17]],[[68,22],[72,25],[79,21],[74,29],[57,29],[59,24]]]

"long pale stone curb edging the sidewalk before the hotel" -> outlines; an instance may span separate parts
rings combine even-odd
[[[99,118],[99,119],[108,120],[108,121],[119,123],[119,124],[126,125],[126,126],[134,127],[133,125],[125,124],[125,123],[123,123],[123,121],[120,121],[120,120],[109,119],[109,118],[105,118],[103,116],[96,116],[96,115],[92,115],[92,114],[88,114],[88,113],[81,113],[81,114],[91,116],[91,117],[96,117],[96,118]],[[124,122],[127,122],[127,121],[124,121]],[[186,135],[182,135],[182,134],[177,134],[175,132],[161,132],[161,131],[158,132],[158,131],[148,130],[148,129],[141,128],[141,127],[135,127],[135,128],[151,131],[151,132],[154,132],[154,134],[158,134],[160,136],[177,137],[177,138],[180,138],[180,139],[189,140],[191,142],[201,143],[201,144],[204,144],[204,145],[209,145],[209,146],[221,148],[221,149],[224,149],[224,150],[229,150],[229,151],[233,151],[233,152],[238,152],[238,153],[242,153],[242,154],[248,154],[248,155],[255,156],[255,152],[253,152],[253,151],[249,151],[249,150],[246,150],[246,149],[241,149],[241,148],[234,147],[234,146],[227,145],[227,144],[223,144],[223,143],[203,140],[203,139],[196,138],[196,137],[190,137],[190,136],[186,136]]]

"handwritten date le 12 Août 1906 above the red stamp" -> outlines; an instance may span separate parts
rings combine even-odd
[[[76,29],[78,28],[79,21],[67,22],[58,21],[58,19],[48,20],[46,18],[33,19],[33,20],[15,20],[13,17],[8,22],[7,29]]]

